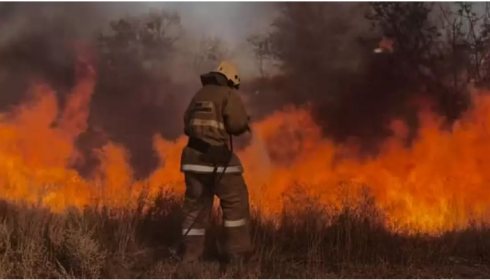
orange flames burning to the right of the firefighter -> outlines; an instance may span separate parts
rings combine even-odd
[[[360,187],[367,187],[386,214],[386,225],[394,230],[433,233],[467,226],[474,219],[488,221],[489,108],[490,97],[478,97],[474,110],[452,131],[442,130],[442,119],[437,116],[421,113],[419,137],[410,148],[403,145],[406,128],[394,121],[394,136],[383,144],[378,156],[365,161],[355,157],[336,160],[349,147],[322,139],[306,111],[278,113],[256,129],[270,140],[271,154],[288,155],[290,162],[275,164],[268,185],[253,195],[261,196],[262,207],[270,212],[280,209],[277,198],[293,182],[301,183],[323,204],[338,207],[345,202],[339,188],[359,195]],[[277,141],[278,136],[287,140]],[[242,155],[248,164],[258,164],[248,155],[251,153]],[[247,176],[251,186],[254,180],[254,174]]]

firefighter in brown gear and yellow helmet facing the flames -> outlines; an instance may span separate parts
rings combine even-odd
[[[242,261],[252,251],[249,197],[243,166],[228,145],[232,135],[249,130],[249,117],[238,93],[240,77],[232,63],[223,61],[200,78],[203,87],[184,114],[188,144],[181,156],[186,184],[182,262],[193,263],[204,251],[214,195],[223,212],[227,259]]]

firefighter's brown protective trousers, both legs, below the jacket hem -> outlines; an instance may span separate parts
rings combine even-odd
[[[252,251],[248,190],[242,174],[185,173],[183,206],[183,261],[198,260],[204,251],[204,238],[213,207],[214,195],[220,199],[225,230],[224,247],[228,256]],[[189,229],[190,228],[190,229]]]

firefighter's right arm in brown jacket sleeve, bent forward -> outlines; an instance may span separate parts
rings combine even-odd
[[[245,110],[245,105],[235,90],[231,91],[228,99],[225,100],[223,117],[226,132],[229,134],[240,135],[250,130],[249,117]]]

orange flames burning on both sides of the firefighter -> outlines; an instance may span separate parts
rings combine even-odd
[[[87,128],[95,81],[94,71],[82,75],[61,114],[52,89],[36,85],[30,102],[0,116],[1,198],[63,211],[94,203],[131,207],[143,190],[150,195],[162,188],[183,192],[179,163],[185,137],[172,142],[155,136],[161,166],[145,181],[134,181],[130,155],[113,143],[97,151],[102,165],[95,180],[68,167],[80,156],[73,143]],[[367,188],[394,231],[437,233],[474,219],[487,222],[490,97],[479,95],[474,104],[451,131],[440,128],[438,116],[421,112],[422,125],[411,147],[403,144],[404,123],[394,120],[393,137],[367,160],[356,156],[355,147],[323,138],[307,109],[276,112],[254,124],[252,144],[238,152],[253,207],[274,217],[285,207],[285,196],[299,187],[330,211],[340,211]]]

